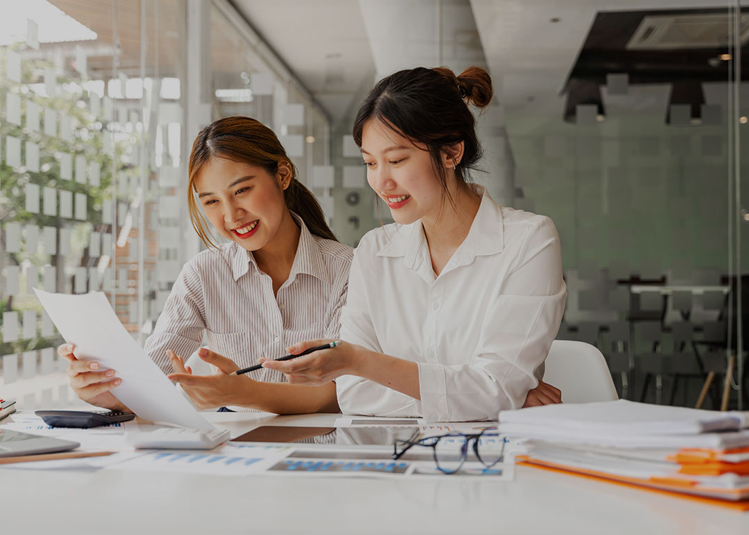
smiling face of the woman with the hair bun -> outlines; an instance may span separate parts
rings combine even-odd
[[[362,131],[362,156],[369,186],[386,202],[396,223],[407,225],[438,216],[446,192],[434,173],[429,151],[371,120]],[[451,178],[455,181],[454,175]]]

